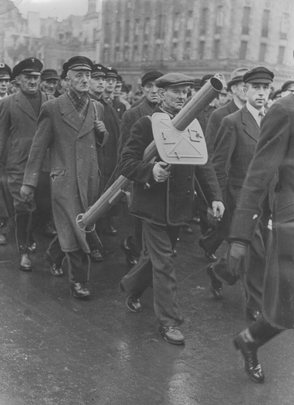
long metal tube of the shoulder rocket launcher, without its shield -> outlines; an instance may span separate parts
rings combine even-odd
[[[218,77],[218,75],[216,75]],[[223,81],[217,77],[212,77],[199,90],[197,94],[183,107],[183,109],[174,117],[171,122],[173,126],[183,131],[223,89]],[[155,141],[145,149],[143,160],[149,162],[158,155]],[[116,181],[106,190],[104,194],[96,201],[96,203],[88,209],[84,214],[79,214],[76,217],[76,223],[79,228],[85,230],[86,226],[93,226],[95,222],[101,218],[113,205],[125,195],[126,190],[130,185],[130,180],[124,176],[118,177]]]

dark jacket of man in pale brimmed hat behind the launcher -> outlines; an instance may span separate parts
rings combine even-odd
[[[209,116],[206,131],[205,131],[205,142],[207,147],[207,152],[210,157],[214,152],[214,141],[216,139],[216,134],[220,129],[220,123],[222,119],[227,115],[235,113],[239,108],[235,104],[234,100],[231,100],[228,104],[223,107],[219,107]]]

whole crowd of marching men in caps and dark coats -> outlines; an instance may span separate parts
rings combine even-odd
[[[31,255],[38,248],[34,229],[41,224],[50,237],[51,274],[62,276],[66,259],[73,296],[89,297],[91,261],[103,260],[97,230],[116,235],[113,217],[124,205],[86,232],[76,217],[118,175],[127,177],[133,226],[121,249],[131,270],[120,282],[127,308],[141,311],[140,296],[152,285],[160,333],[169,343],[184,343],[173,257],[180,232],[192,233],[189,222],[199,223],[214,297],[223,298],[223,283],[243,282],[252,325],[234,343],[247,374],[263,382],[258,347],[294,327],[294,81],[274,91],[274,74],[266,67],[237,68],[195,117],[205,135],[206,164],[176,167],[159,157],[143,160],[153,140],[152,114],[173,119],[212,77],[146,72],[135,100],[116,69],[83,56],[64,63],[60,77],[37,58],[13,70],[0,63],[0,245],[7,243],[8,219],[14,215],[19,269],[32,271]],[[217,258],[223,241],[230,242],[228,252]]]

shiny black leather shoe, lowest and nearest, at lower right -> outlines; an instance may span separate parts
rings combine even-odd
[[[238,333],[233,340],[236,350],[240,350],[244,357],[245,371],[255,382],[264,382],[264,373],[257,359],[258,345],[248,340],[246,329]]]

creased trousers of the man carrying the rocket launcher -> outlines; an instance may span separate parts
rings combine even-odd
[[[177,303],[176,269],[170,237],[176,231],[171,229],[172,226],[161,226],[146,220],[142,220],[142,227],[144,252],[121,283],[127,295],[139,298],[153,280],[154,311],[159,324],[178,326],[182,324],[183,317]]]

